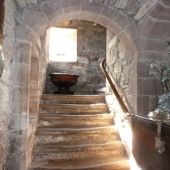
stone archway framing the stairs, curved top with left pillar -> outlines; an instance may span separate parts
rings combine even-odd
[[[113,17],[114,13],[115,16]],[[31,133],[33,133],[32,124],[29,123],[30,69],[34,69],[33,63],[31,64],[32,45],[48,27],[71,19],[93,21],[106,27],[118,36],[124,46],[129,49],[129,55],[135,57],[137,55],[134,45],[134,42],[138,39],[136,22],[122,11],[104,9],[102,5],[60,4],[58,1],[51,1],[48,4],[42,2],[38,7],[23,9],[16,26],[17,57],[14,57],[11,69],[12,74],[15,72],[13,74],[13,86],[11,87],[14,96],[12,103],[15,107],[12,107],[11,112],[18,116],[15,121],[16,124],[18,122],[20,124],[16,130],[19,133],[20,144],[18,144],[17,155],[12,155],[12,159],[9,153],[8,164],[13,164],[13,167],[16,167],[17,170],[25,170],[28,167],[31,150],[29,147],[32,146],[33,142],[33,140],[30,140]],[[135,65],[136,61],[134,61],[134,68]],[[134,69],[134,72],[136,72],[136,69]],[[133,81],[136,83],[136,78]],[[39,81],[36,81],[36,83],[39,83]],[[134,100],[136,95],[135,89]]]

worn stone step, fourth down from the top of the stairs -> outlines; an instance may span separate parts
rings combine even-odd
[[[43,146],[102,144],[118,139],[117,129],[114,126],[79,129],[38,128],[36,134],[38,135],[36,144]]]

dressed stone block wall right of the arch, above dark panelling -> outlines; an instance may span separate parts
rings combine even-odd
[[[158,96],[163,94],[160,78],[149,76],[150,64],[170,65],[165,37],[170,37],[170,3],[163,0],[138,23],[137,108],[139,115],[147,115],[157,107]],[[157,96],[156,96],[157,94]]]

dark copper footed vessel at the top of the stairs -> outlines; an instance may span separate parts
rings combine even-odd
[[[78,75],[68,73],[51,73],[49,74],[51,81],[59,89],[55,94],[73,94],[69,88],[77,83]]]

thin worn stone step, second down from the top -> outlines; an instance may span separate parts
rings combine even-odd
[[[40,113],[106,113],[108,112],[106,104],[40,104]]]

